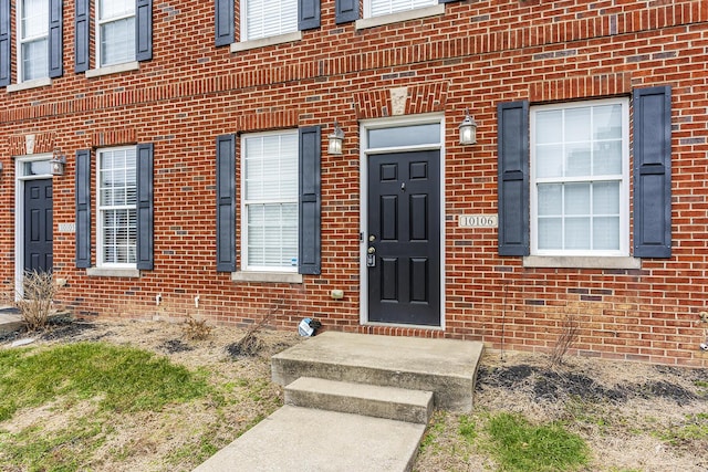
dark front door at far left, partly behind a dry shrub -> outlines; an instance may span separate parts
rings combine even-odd
[[[53,265],[52,179],[24,182],[24,270],[46,272]]]

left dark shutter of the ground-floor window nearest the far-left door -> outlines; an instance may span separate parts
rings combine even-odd
[[[91,268],[91,150],[76,151],[76,268]]]

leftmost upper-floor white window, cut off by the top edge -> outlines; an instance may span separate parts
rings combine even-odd
[[[49,1],[20,0],[18,2],[20,81],[49,75]]]

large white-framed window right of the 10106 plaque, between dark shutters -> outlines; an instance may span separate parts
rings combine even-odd
[[[531,248],[538,255],[628,255],[628,103],[531,112]]]

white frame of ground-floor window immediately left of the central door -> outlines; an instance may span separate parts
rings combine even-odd
[[[241,271],[243,272],[254,272],[254,273],[293,273],[298,274],[298,269],[300,266],[300,261],[295,265],[290,266],[263,266],[263,265],[250,265],[249,264],[249,241],[248,241],[248,216],[249,216],[249,206],[250,204],[267,204],[267,203],[292,203],[298,206],[299,197],[295,192],[295,196],[290,199],[281,198],[281,199],[261,199],[261,200],[247,200],[246,198],[246,154],[247,149],[247,140],[249,138],[259,138],[264,136],[285,136],[285,135],[294,135],[295,143],[299,147],[299,132],[298,129],[285,129],[285,130],[277,130],[277,132],[264,132],[264,133],[249,133],[241,136],[241,146],[240,146],[240,160],[241,160],[241,188],[240,188],[240,200],[241,200]],[[295,159],[299,160],[298,157],[299,148],[294,150]],[[295,162],[296,170],[295,177],[299,179],[300,175],[300,162]],[[296,221],[300,224],[299,218]],[[300,228],[296,228],[296,233],[299,234]],[[300,248],[300,241],[296,241],[296,247]]]

